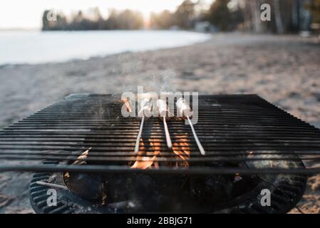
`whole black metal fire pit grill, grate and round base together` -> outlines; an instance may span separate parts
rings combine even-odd
[[[133,169],[141,158],[133,153],[139,120],[124,118],[122,105],[118,95],[69,95],[5,128],[0,171],[36,172],[30,198],[39,213],[284,213],[304,194],[306,175],[320,172],[303,162],[319,160],[320,130],[258,95],[200,95],[195,130],[205,156],[183,121],[167,123],[172,149],[190,152],[177,156],[165,145],[161,120],[150,118],[140,150],[143,157],[160,152],[158,167]],[[86,164],[73,165],[89,148]],[[48,207],[48,187],[36,181],[68,190]],[[271,207],[259,204],[265,188]]]

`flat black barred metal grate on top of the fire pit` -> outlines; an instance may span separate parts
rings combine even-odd
[[[173,149],[190,151],[190,156],[179,158],[185,157],[189,167],[165,165],[177,162],[177,155],[166,146],[162,121],[148,119],[140,150],[145,152],[143,157],[153,157],[159,151],[154,162],[160,167],[131,169],[130,164],[143,159],[133,153],[140,120],[124,118],[122,105],[116,95],[71,95],[5,128],[0,131],[0,171],[177,175],[320,172],[319,168],[284,164],[320,160],[320,130],[257,95],[200,95],[195,130],[205,156],[200,155],[189,125],[177,118],[167,122]],[[68,165],[88,148],[88,165]],[[43,165],[45,160],[58,165]]]

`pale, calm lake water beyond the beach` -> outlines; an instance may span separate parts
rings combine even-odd
[[[208,38],[208,34],[189,31],[1,31],[0,65],[62,62],[172,48]]]

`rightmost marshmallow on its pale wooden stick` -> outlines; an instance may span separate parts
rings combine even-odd
[[[179,100],[177,100],[176,105],[177,105],[177,112],[180,114],[182,119],[188,120],[190,124],[190,128],[192,130],[193,137],[195,138],[195,142],[197,142],[197,146],[200,150],[200,153],[202,155],[205,155],[205,149],[203,149],[199,138],[197,138],[197,133],[195,133],[195,128],[193,128],[193,125],[190,120],[190,117],[192,117],[192,110],[190,109],[189,105],[187,105],[187,102],[183,98],[180,98]]]

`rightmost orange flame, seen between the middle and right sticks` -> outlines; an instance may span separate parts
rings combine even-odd
[[[175,162],[175,167],[184,166],[189,167],[189,160],[190,158],[190,147],[189,143],[187,142],[187,133],[183,135],[177,135],[176,141],[172,143],[172,150],[177,155],[177,160],[183,160],[179,162]]]

